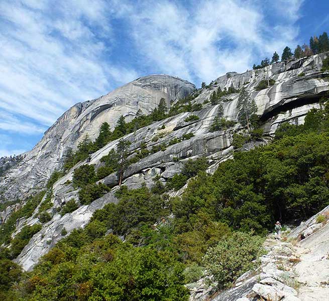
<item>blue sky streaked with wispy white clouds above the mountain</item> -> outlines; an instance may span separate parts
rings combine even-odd
[[[200,86],[294,50],[329,32],[328,9],[327,0],[0,0],[0,157],[31,149],[74,103],[139,76]]]

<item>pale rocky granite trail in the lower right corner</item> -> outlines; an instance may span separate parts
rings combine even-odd
[[[329,206],[293,230],[283,231],[281,240],[270,234],[264,249],[267,253],[258,268],[241,275],[232,288],[213,294],[199,280],[190,300],[329,300]]]

